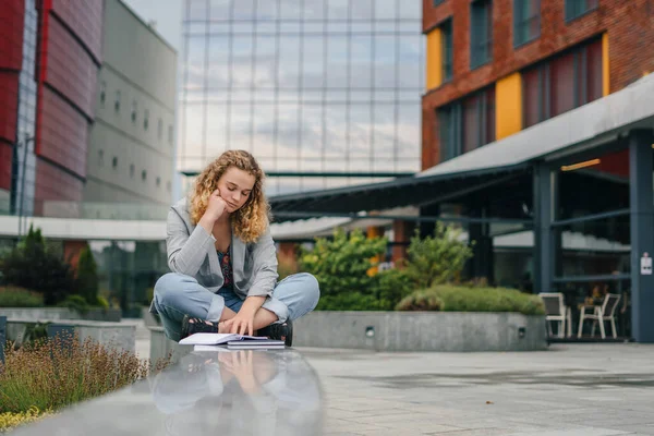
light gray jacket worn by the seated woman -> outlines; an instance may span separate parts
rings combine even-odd
[[[216,252],[216,239],[202,226],[193,226],[186,199],[174,204],[168,213],[166,247],[171,271],[191,276],[216,293],[223,277]],[[241,299],[271,295],[277,284],[277,250],[269,231],[256,242],[245,243],[232,234],[231,262],[234,293]],[[150,312],[154,312],[150,305]]]

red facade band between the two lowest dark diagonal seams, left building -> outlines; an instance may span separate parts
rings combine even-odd
[[[87,120],[48,87],[44,88],[39,105],[43,114],[39,156],[85,178]]]

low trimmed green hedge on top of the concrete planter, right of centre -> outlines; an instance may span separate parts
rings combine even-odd
[[[439,284],[405,296],[398,311],[440,312],[519,312],[544,315],[545,306],[538,295],[505,288],[468,288]]]

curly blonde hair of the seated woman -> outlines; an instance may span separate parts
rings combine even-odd
[[[264,195],[264,179],[266,174],[258,162],[245,150],[228,150],[209,164],[195,180],[195,186],[190,194],[190,215],[197,225],[207,210],[209,195],[218,187],[218,179],[230,167],[254,175],[254,186],[250,198],[239,210],[231,215],[234,234],[243,242],[254,242],[266,232],[270,222],[270,205]]]

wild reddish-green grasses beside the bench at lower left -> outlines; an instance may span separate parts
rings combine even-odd
[[[161,371],[170,359],[155,365],[129,351],[108,349],[87,338],[56,337],[19,350],[8,347],[0,364],[0,413],[32,408],[57,411],[98,397]]]

